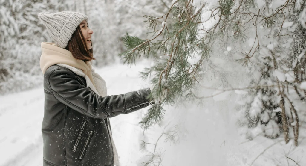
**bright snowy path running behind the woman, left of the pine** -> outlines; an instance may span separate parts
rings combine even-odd
[[[143,67],[119,64],[96,69],[96,72],[106,80],[108,95],[114,95],[143,88],[144,82],[138,77]],[[43,86],[0,97],[0,166],[42,165],[43,108]],[[136,124],[141,111],[110,119],[118,153],[124,154],[120,158],[122,165],[135,165],[135,155],[140,155],[138,134],[141,129]]]

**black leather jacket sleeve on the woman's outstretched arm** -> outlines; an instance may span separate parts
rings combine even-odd
[[[58,101],[92,118],[129,114],[155,103],[153,98],[148,99],[150,88],[120,95],[99,96],[89,87],[80,84],[72,71],[65,69],[52,71],[49,84]]]

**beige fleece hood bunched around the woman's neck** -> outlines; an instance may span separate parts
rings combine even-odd
[[[91,73],[90,61],[84,62],[77,60],[72,56],[72,53],[64,48],[60,48],[56,43],[42,42],[42,55],[40,56],[40,69],[45,74],[47,68],[54,64],[66,64],[74,68],[82,70],[82,72],[89,77],[93,85],[95,82]]]

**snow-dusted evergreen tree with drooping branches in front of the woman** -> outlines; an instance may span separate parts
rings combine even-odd
[[[152,95],[158,102],[140,122],[142,127],[147,129],[162,121],[163,106],[173,105],[178,99],[204,99],[197,97],[195,89],[206,76],[203,71],[211,68],[213,73],[220,73],[214,70],[210,58],[233,43],[238,48],[232,53],[243,56],[236,61],[253,77],[245,78],[250,83],[244,88],[250,89],[249,101],[245,101],[242,109],[246,124],[254,127],[260,121],[265,136],[271,138],[284,131],[286,142],[291,127],[297,145],[298,117],[304,116],[297,107],[304,103],[296,100],[296,96],[305,98],[300,92],[305,76],[304,64],[296,66],[304,59],[304,42],[301,42],[304,39],[294,36],[304,31],[300,28],[305,25],[304,16],[304,1],[289,0],[284,3],[220,0],[210,4],[177,0],[172,1],[169,11],[162,16],[144,16],[147,28],[152,31],[150,38],[127,34],[123,42],[128,50],[118,54],[130,65],[141,56],[155,57],[155,65],[141,74],[144,79],[151,79]],[[210,26],[207,21],[212,22]],[[297,44],[301,47],[290,49]],[[225,79],[223,82],[219,86],[228,86]],[[277,131],[268,131],[271,127]]]

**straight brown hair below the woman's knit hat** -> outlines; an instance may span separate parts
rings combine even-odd
[[[95,60],[92,55],[92,48],[88,50],[86,42],[80,26],[77,26],[65,49],[70,51],[75,59],[84,61]]]

